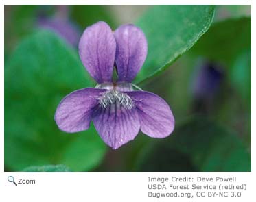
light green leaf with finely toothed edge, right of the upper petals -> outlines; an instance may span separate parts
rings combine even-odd
[[[148,40],[148,57],[136,77],[141,82],[169,67],[205,34],[213,21],[209,5],[153,6],[137,22]]]

